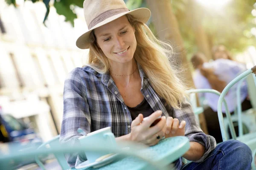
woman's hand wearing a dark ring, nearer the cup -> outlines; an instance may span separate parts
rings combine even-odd
[[[152,127],[150,127],[150,125],[161,115],[162,111],[156,111],[143,121],[143,115],[139,114],[137,118],[131,122],[131,141],[140,142],[148,146],[157,144],[160,139],[165,136],[166,117],[162,116],[157,125]]]

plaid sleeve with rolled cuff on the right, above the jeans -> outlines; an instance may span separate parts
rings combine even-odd
[[[203,130],[201,130],[198,122],[195,120],[195,114],[189,102],[183,102],[182,109],[174,109],[172,116],[173,118],[179,119],[179,121],[186,121],[185,136],[189,138],[190,142],[198,142],[205,147],[204,155],[195,162],[204,161],[209,153],[216,147],[215,138],[205,134]]]

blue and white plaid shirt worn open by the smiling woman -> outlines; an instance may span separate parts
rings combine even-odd
[[[163,99],[156,94],[138,65],[141,82],[141,93],[154,111],[161,110],[163,116],[172,116],[179,121],[186,121],[185,136],[190,141],[205,146],[205,153],[197,162],[203,161],[215,148],[216,142],[212,136],[203,133],[189,103],[184,102],[182,109],[168,109]],[[131,132],[131,113],[122,99],[110,74],[99,74],[88,66],[75,68],[70,72],[64,84],[64,113],[61,125],[61,143],[79,144],[81,136],[77,132],[80,127],[90,133],[104,127],[111,127],[116,137]],[[83,153],[66,156],[68,164],[74,167],[86,160]]]

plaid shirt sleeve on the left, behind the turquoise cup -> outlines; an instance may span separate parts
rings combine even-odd
[[[60,143],[69,146],[80,145],[77,132],[78,128],[90,133],[90,112],[85,96],[85,85],[76,68],[70,72],[64,83],[64,109],[61,124]],[[84,152],[65,154],[67,163],[70,167],[75,167],[83,161],[86,161]]]

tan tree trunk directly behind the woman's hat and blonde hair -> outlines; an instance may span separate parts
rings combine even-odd
[[[167,40],[171,43],[175,50],[175,54],[178,54],[176,57],[180,60],[180,66],[183,69],[180,77],[183,77],[183,79],[186,80],[185,83],[189,88],[194,88],[189,63],[186,59],[186,50],[184,49],[177,19],[172,12],[171,1],[146,0],[146,2],[152,14],[152,20],[157,32],[157,37],[160,40]],[[208,133],[204,114],[200,114],[199,119],[202,130],[205,133]]]

